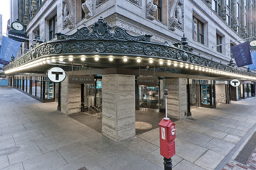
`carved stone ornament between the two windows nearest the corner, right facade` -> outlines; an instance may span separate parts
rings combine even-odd
[[[183,1],[169,0],[169,30],[175,31],[175,28],[183,31],[184,10]]]

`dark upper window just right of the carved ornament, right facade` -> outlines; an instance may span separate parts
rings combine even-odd
[[[193,17],[193,40],[204,44],[203,32],[203,23],[196,17]]]

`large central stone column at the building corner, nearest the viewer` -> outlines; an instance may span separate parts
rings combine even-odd
[[[116,142],[135,136],[135,76],[102,76],[102,134]]]

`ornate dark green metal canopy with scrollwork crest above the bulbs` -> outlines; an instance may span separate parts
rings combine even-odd
[[[29,65],[29,63],[33,63],[36,66],[38,64],[36,62],[43,62],[51,57],[56,57],[55,64],[58,64],[58,57],[60,56],[65,58],[72,55],[74,57],[72,62],[81,62],[81,56],[93,58],[95,55],[105,57],[113,55],[117,56],[117,58],[119,57],[119,59],[123,56],[128,56],[133,59],[141,57],[141,60],[148,60],[149,58],[164,61],[171,60],[172,62],[182,62],[184,64],[256,77],[255,73],[223,65],[193,54],[190,52],[191,50],[184,50],[189,48],[179,49],[169,46],[167,42],[164,44],[150,42],[150,35],[131,36],[122,28],[115,28],[115,32],[112,33],[110,32],[112,28],[102,17],[91,28],[91,32],[87,27],[77,29],[77,32],[72,35],[56,33],[56,41],[37,44],[30,52],[5,66],[4,72],[13,68],[23,67],[26,69],[25,65]],[[182,45],[186,46],[186,44]],[[93,62],[90,62],[90,65],[93,66]],[[115,67],[118,67],[118,65],[115,65]]]

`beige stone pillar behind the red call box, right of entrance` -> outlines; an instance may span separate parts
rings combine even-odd
[[[166,78],[168,89],[167,113],[176,118],[187,116],[187,83],[186,78]]]

